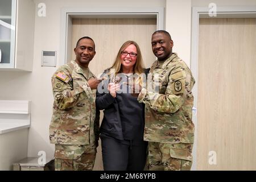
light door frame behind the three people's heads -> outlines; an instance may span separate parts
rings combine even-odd
[[[68,50],[72,49],[73,18],[156,18],[156,29],[164,30],[164,8],[64,8],[61,10],[60,61],[67,63],[71,59]]]

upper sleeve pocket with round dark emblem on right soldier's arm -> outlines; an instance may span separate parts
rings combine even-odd
[[[177,71],[175,73],[171,73],[171,92],[174,94],[184,93],[185,89],[185,73],[181,71]]]

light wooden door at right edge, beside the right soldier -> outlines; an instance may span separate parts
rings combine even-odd
[[[256,19],[200,19],[197,169],[256,170],[255,74]]]

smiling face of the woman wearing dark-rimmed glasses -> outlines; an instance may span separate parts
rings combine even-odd
[[[125,67],[127,69],[132,68],[134,66],[134,64],[136,63],[137,56],[131,57],[129,53],[133,52],[133,53],[137,54],[137,48],[133,44],[130,44],[122,52],[128,52],[128,54],[126,56],[122,55],[122,53],[121,53],[122,67]]]

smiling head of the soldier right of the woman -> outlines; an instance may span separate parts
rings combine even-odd
[[[172,55],[172,47],[174,42],[163,32],[157,32],[152,35],[151,39],[152,51],[159,61],[164,61]]]

